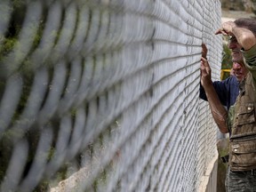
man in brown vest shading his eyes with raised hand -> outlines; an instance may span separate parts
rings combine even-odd
[[[233,61],[243,61],[249,70],[240,83],[234,106],[227,111],[220,103],[211,80],[211,68],[201,58],[201,84],[220,132],[229,132],[227,191],[256,191],[256,20],[225,22],[215,33],[230,36]],[[244,56],[244,57],[243,57]]]

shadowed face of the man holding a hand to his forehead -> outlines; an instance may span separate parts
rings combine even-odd
[[[242,46],[238,44],[235,36],[229,37],[228,48],[231,49],[231,56],[233,62],[243,63],[243,54],[241,52]]]

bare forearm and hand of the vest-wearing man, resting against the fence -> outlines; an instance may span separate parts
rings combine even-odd
[[[215,123],[218,125],[220,132],[227,133],[228,132],[228,112],[226,108],[224,108],[220,102],[220,99],[215,91],[212,79],[211,79],[211,68],[207,60],[204,57],[201,58],[201,84],[204,87],[204,91],[206,93],[207,100],[209,102],[212,116]]]

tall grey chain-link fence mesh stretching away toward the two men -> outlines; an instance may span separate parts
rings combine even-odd
[[[220,2],[2,0],[1,191],[196,191],[216,154]]]

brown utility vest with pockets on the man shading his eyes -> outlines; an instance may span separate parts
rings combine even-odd
[[[252,75],[249,73],[236,99],[234,116],[231,116],[228,161],[234,172],[256,169],[256,90],[252,82]]]

